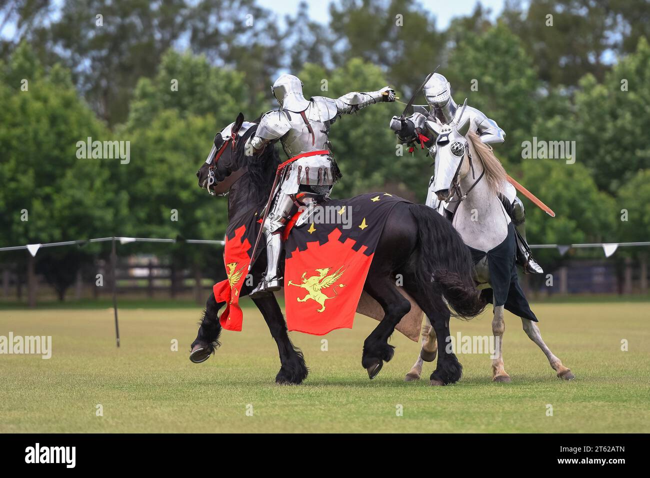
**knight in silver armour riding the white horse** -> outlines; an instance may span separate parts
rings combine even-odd
[[[451,85],[440,73],[434,73],[422,88],[428,109],[426,106],[415,105],[413,114],[408,118],[402,119],[393,116],[390,127],[393,129],[402,143],[413,144],[416,141],[421,142],[422,147],[428,147],[432,158],[435,158],[435,142],[426,141],[428,131],[431,130],[428,122],[439,124],[462,124],[465,118],[469,116],[469,131],[474,131],[476,135],[485,144],[499,144],[504,142],[506,133],[494,120],[488,118],[482,111],[469,105],[459,108],[451,96]],[[462,116],[461,116],[462,115]],[[426,205],[433,207],[441,214],[453,216],[458,198],[454,196],[448,201],[440,201],[435,195],[432,184],[434,177],[429,181],[429,189],[426,195]],[[524,205],[517,197],[517,190],[512,184],[506,183],[504,202],[506,211],[511,213],[511,219],[517,229],[517,261],[523,266],[526,273],[541,274],[543,270],[539,264],[532,258],[530,247],[526,242],[526,226]],[[447,211],[447,213],[445,213]]]

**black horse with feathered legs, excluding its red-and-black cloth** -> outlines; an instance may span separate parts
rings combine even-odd
[[[244,125],[243,128],[240,127]],[[244,153],[244,143],[253,134],[257,124],[244,123],[243,114],[229,131],[239,131],[226,139],[217,134],[213,152],[224,146],[222,154],[213,165],[214,182],[209,179],[211,158],[196,173],[201,188],[216,193],[226,193],[230,222],[248,217],[265,204],[270,194],[276,170],[280,163],[275,148],[267,147],[259,156]],[[225,130],[222,130],[225,131]],[[257,284],[266,268],[265,251],[253,264],[250,273]],[[364,290],[375,299],[385,313],[379,325],[363,344],[361,365],[374,378],[383,361],[393,358],[393,347],[388,339],[400,319],[409,312],[411,304],[398,290],[395,277],[402,274],[406,292],[428,315],[438,337],[448,337],[449,306],[460,317],[471,318],[482,312],[480,299],[473,280],[473,263],[467,247],[448,220],[430,207],[400,202],[385,222],[382,235],[374,252]],[[248,295],[252,287],[244,285],[240,296]],[[253,299],[262,313],[271,335],[278,343],[280,370],[276,382],[300,384],[306,377],[302,351],[294,347],[287,334],[287,325],[274,295]],[[198,335],[192,343],[194,361],[205,360],[220,345],[221,325],[218,312],[225,302],[217,303],[211,295],[201,319]],[[201,350],[202,349],[202,350]],[[196,352],[196,353],[195,353]],[[196,356],[196,355],[200,356]],[[196,360],[199,359],[199,360]],[[431,384],[443,385],[458,381],[462,367],[453,353],[444,347],[438,354],[437,367],[431,375]]]

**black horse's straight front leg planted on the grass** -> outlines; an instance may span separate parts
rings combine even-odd
[[[278,344],[281,366],[276,376],[276,383],[301,384],[307,378],[309,369],[305,365],[302,351],[291,343],[287,332],[287,323],[285,323],[278,300],[276,300],[275,295],[271,294],[255,298],[253,302],[255,302],[259,312],[262,313],[271,336]]]

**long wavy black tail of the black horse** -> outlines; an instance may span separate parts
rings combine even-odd
[[[419,234],[418,287],[438,287],[458,317],[471,319],[483,312],[486,302],[476,289],[472,256],[451,221],[421,204],[412,204],[409,211]]]

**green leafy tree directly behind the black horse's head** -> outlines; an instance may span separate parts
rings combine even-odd
[[[249,90],[244,74],[211,66],[205,55],[169,50],[159,72],[141,79],[131,114],[122,128],[132,144],[132,160],[116,181],[129,191],[129,209],[142,237],[222,239],[227,226],[227,199],[200,191],[194,173],[205,160],[217,131],[232,123],[242,109],[253,120],[259,110],[246,110]],[[268,103],[267,103],[268,106]],[[182,243],[138,245],[134,250],[168,256],[177,271],[184,264],[216,278],[220,253]]]

